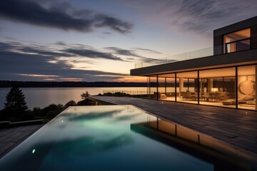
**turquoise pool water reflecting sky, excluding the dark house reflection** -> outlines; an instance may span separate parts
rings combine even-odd
[[[142,127],[154,120],[132,105],[71,107],[2,157],[0,168],[214,170],[204,157],[173,147],[151,133],[151,127]]]

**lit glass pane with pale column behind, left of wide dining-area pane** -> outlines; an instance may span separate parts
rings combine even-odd
[[[177,73],[178,93],[177,101],[198,103],[197,71]]]

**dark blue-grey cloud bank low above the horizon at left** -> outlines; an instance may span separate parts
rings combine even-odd
[[[61,81],[64,78],[80,78],[83,81],[113,81],[128,76],[123,73],[71,69],[74,66],[59,60],[59,56],[59,53],[44,52],[35,47],[22,47],[21,43],[0,42],[0,80],[42,81],[44,78],[54,78]],[[31,77],[31,74],[42,76]]]

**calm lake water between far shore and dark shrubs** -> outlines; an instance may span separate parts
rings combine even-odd
[[[0,88],[0,110],[4,108],[6,94],[11,88]],[[124,91],[125,93],[136,94],[146,92],[147,88],[142,87],[116,87],[116,88],[21,88],[25,100],[30,109],[34,107],[44,108],[52,103],[65,105],[69,100],[78,102],[81,100],[81,93],[88,91],[91,95],[98,95],[107,91]]]

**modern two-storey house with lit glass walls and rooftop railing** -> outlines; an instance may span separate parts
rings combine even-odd
[[[257,110],[256,73],[257,16],[214,30],[213,48],[131,70],[148,77],[148,98],[247,110]]]

